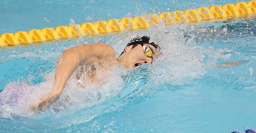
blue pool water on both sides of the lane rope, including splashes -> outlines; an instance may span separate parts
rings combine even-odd
[[[148,14],[151,12],[149,8],[154,6],[166,11],[167,8],[177,10],[212,3],[223,4],[223,1],[168,1],[166,5],[157,0],[131,1],[126,10],[119,11],[110,7],[111,3],[107,5],[104,2],[94,0],[86,3],[95,6],[102,4],[109,9],[103,12],[99,7],[94,15],[84,11],[93,18],[92,21],[120,18],[129,12]],[[39,6],[39,3],[28,1],[28,7],[20,8],[30,10],[36,8],[32,5]],[[73,16],[76,16],[73,17],[76,23],[82,23],[87,20],[84,19],[85,14],[79,13],[82,12],[79,8],[92,8],[82,2],[51,2],[55,4],[53,7],[56,4],[63,5],[63,8],[64,5],[70,7],[64,10],[69,14],[66,17],[48,14],[47,18],[57,17],[50,22],[39,22],[43,13],[47,14],[52,9],[56,12],[63,10],[48,7],[50,1],[41,3],[47,6],[39,6],[42,9],[38,11],[39,16],[28,20],[33,23],[30,27],[24,21],[7,25],[6,19],[5,26],[1,25],[3,33],[59,25],[58,22],[65,24]],[[9,10],[19,9],[14,9],[12,4],[16,3],[5,1],[5,7],[9,7]],[[79,7],[76,11],[72,10],[76,7]],[[135,7],[141,10],[136,12]],[[4,20],[1,17],[0,20]],[[14,19],[10,15],[4,17]],[[161,23],[149,30],[0,49],[0,89],[3,90],[0,93],[0,132],[222,133],[255,128],[255,21],[255,17],[251,16],[248,20],[225,23],[172,26]],[[119,56],[135,35],[150,36],[160,45],[162,54],[152,65],[145,64],[130,70],[115,66],[109,70],[109,78],[103,80],[102,84],[94,85],[88,81],[86,89],[77,85],[79,81],[73,74],[63,94],[53,105],[43,111],[28,111],[29,105],[53,86],[54,69],[65,49],[81,43],[103,42],[114,47],[116,56]],[[217,63],[228,61],[245,63],[233,67],[216,66]]]

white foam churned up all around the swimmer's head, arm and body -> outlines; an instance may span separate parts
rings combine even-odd
[[[78,84],[81,80],[76,79],[76,70],[68,80],[63,94],[61,94],[60,98],[47,110],[51,112],[53,110],[61,111],[92,107],[107,99],[111,99],[123,89],[125,82],[128,81],[126,79],[127,77],[132,78],[132,76],[137,76],[137,69],[142,69],[139,71],[140,73],[149,73],[149,77],[147,78],[151,81],[155,81],[156,86],[162,82],[168,82],[170,84],[187,84],[191,82],[191,80],[205,74],[207,68],[212,68],[218,58],[230,57],[230,54],[222,54],[224,51],[228,51],[227,49],[214,50],[213,47],[197,46],[194,41],[193,31],[195,31],[193,26],[185,24],[172,26],[160,24],[149,30],[140,30],[136,32],[126,31],[120,34],[109,35],[109,39],[105,41],[114,47],[117,51],[117,56],[123,51],[127,42],[136,35],[147,35],[151,37],[151,41],[160,45],[161,55],[155,58],[154,63],[150,67],[144,67],[142,65],[136,68],[135,71],[126,70],[122,66],[115,66],[109,70],[109,73],[107,74],[108,78],[104,78],[104,74],[101,71],[98,71],[98,75],[102,76],[104,80],[100,84],[95,85],[87,79],[85,80],[86,88],[82,88]],[[184,37],[184,34],[187,32],[191,32],[190,37]],[[101,37],[98,39],[100,38]],[[42,55],[39,55],[38,53],[41,53]],[[34,54],[33,56],[50,59],[51,55],[56,56],[54,53],[55,51],[44,55],[41,51],[13,56],[29,57],[31,56],[30,54]],[[129,72],[134,73],[129,76],[129,74],[127,74]],[[54,72],[45,75],[44,78],[46,79],[46,82],[34,86],[19,81],[7,84],[4,91],[0,93],[0,116],[12,118],[11,115],[33,115],[33,112],[28,111],[27,108],[33,102],[37,101],[40,96],[52,89]],[[134,82],[134,84],[139,84],[140,80],[137,80],[136,82]]]

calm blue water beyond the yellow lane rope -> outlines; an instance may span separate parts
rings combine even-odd
[[[235,2],[238,0],[2,0],[0,34],[69,25],[70,18],[81,24]]]

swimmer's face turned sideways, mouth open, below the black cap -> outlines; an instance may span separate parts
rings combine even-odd
[[[149,44],[144,44],[147,47],[149,47],[152,51],[152,56],[153,58],[156,57],[156,53],[157,50],[155,47],[149,45]],[[134,47],[132,49],[132,46],[128,46],[125,48],[126,49],[126,53],[124,56],[124,67],[125,68],[135,68],[136,66],[145,64],[145,63],[149,63],[151,64],[153,62],[153,58],[152,57],[147,57],[144,54],[142,45],[137,45],[136,47]]]

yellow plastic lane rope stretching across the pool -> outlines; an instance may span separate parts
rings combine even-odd
[[[151,26],[164,22],[167,25],[174,23],[200,23],[221,19],[236,19],[256,14],[256,1],[238,2],[234,4],[213,5],[197,9],[175,10],[146,16],[123,17],[107,21],[82,23],[81,25],[56,26],[42,28],[28,32],[3,33],[0,35],[0,47],[30,44],[49,40],[85,37],[88,35],[116,33],[129,30],[148,29]]]

